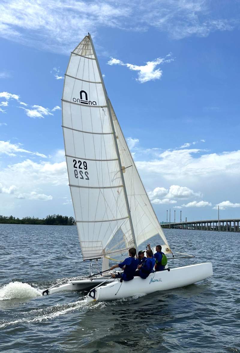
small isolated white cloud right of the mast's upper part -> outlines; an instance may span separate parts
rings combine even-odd
[[[169,56],[170,54],[168,54]],[[164,62],[170,62],[173,61],[174,59],[165,59],[165,58],[157,58],[153,61],[147,61],[146,65],[134,65],[134,64],[124,64],[119,59],[114,59],[111,58],[107,64],[108,65],[121,65],[121,66],[126,66],[132,71],[137,71],[138,72],[138,78],[136,78],[136,81],[140,83],[148,82],[151,80],[156,80],[160,79],[162,76],[162,70],[160,68],[156,68],[157,65],[163,64]]]

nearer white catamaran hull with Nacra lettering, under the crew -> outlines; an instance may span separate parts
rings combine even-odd
[[[115,300],[134,295],[146,295],[156,291],[166,291],[205,280],[212,274],[211,262],[177,267],[170,271],[152,273],[145,280],[140,277],[134,277],[131,281],[120,282],[120,280],[115,280],[106,283],[92,289],[87,295],[87,300]]]

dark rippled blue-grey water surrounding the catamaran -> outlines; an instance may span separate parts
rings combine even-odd
[[[88,273],[75,226],[0,225],[0,351],[240,352],[240,234],[164,232],[173,249],[196,255],[169,267],[211,260],[214,276],[169,292],[86,303],[83,292],[40,295]]]

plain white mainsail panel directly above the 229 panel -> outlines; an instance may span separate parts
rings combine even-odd
[[[116,155],[113,134],[85,133],[63,128],[66,155],[94,160],[111,160]]]

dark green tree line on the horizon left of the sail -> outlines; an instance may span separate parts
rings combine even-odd
[[[75,219],[70,216],[62,215],[48,215],[46,218],[40,219],[38,217],[23,217],[22,219],[13,216],[2,216],[0,215],[0,224],[10,223],[10,224],[45,224],[52,226],[73,226],[75,224]]]

